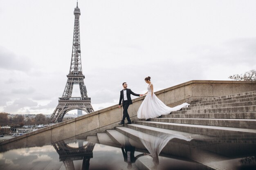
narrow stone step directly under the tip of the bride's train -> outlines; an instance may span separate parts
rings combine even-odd
[[[195,110],[195,109],[209,109],[209,108],[226,108],[226,107],[236,107],[236,106],[253,106],[256,105],[256,100],[247,102],[235,102],[226,104],[212,104],[203,106],[189,106],[188,108],[182,108],[182,110]]]

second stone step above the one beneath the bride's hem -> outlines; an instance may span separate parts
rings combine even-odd
[[[235,112],[255,112],[256,105],[252,106],[237,106],[225,108],[209,108],[209,109],[195,109],[195,110],[179,110],[173,111],[171,114],[189,114],[189,113],[235,113]]]

